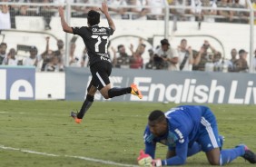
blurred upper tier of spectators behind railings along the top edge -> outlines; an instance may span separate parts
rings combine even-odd
[[[0,2],[54,4],[52,6],[0,5],[0,29],[15,28],[15,15],[27,15],[43,16],[44,29],[50,30],[51,18],[57,15],[56,5],[65,3],[65,0],[1,0]],[[73,17],[86,17],[88,11],[95,9],[97,7],[95,5],[100,4],[102,0],[68,2],[72,4]],[[75,5],[77,3],[82,5]],[[114,19],[159,20],[163,19],[165,5],[170,5],[172,6],[170,17],[173,21],[249,23],[249,12],[218,10],[218,8],[248,8],[246,0],[107,0],[107,3]],[[251,0],[251,3],[253,8],[256,8],[255,0]],[[202,7],[211,7],[211,9],[206,10]]]

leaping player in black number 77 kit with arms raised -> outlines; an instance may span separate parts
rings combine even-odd
[[[108,13],[108,6],[102,3],[100,11],[105,15],[109,27],[100,27],[100,13],[91,10],[87,16],[87,25],[82,27],[70,27],[64,19],[64,9],[59,7],[59,15],[61,17],[61,24],[64,32],[80,35],[88,50],[90,70],[93,75],[92,81],[87,88],[87,95],[79,113],[71,113],[76,123],[81,123],[84,113],[90,108],[94,102],[94,94],[97,90],[103,95],[105,99],[113,98],[114,96],[132,93],[143,98],[143,94],[139,91],[136,84],[132,83],[130,87],[126,88],[111,88],[109,76],[112,72],[112,64],[109,55],[107,54],[107,45],[109,43],[109,36],[113,34],[115,25]]]

